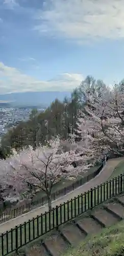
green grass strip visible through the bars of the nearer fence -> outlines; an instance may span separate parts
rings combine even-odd
[[[112,188],[113,185],[113,194],[110,188]],[[108,189],[107,189],[108,187]],[[95,205],[98,205],[105,200],[112,198],[112,196],[118,194],[118,184],[117,184],[117,191],[115,189],[115,182],[114,184],[111,182],[110,183],[100,186],[96,190],[93,190],[93,196],[91,200],[91,194],[86,193],[86,196],[83,195],[82,197],[78,197],[75,200],[71,200],[68,203],[65,203],[65,205],[62,205],[62,207],[58,207],[58,224],[61,225],[62,223],[65,223],[65,221],[69,221],[72,218],[76,218],[79,215],[81,215],[83,212],[86,212],[87,210],[91,209],[91,201],[92,201],[92,206],[94,207]],[[107,193],[108,190],[108,193]],[[107,196],[108,195],[108,196]],[[89,200],[88,200],[89,198]],[[88,204],[89,201],[89,204]],[[71,210],[72,209],[72,210]],[[65,218],[64,218],[65,216]],[[46,221],[45,221],[46,220]],[[50,220],[50,222],[49,222]],[[29,223],[25,223],[23,225],[20,225],[17,229],[17,234],[18,234],[18,246],[21,245],[21,239],[22,239],[22,244],[28,243],[29,241],[33,241],[34,238],[37,238],[38,235],[39,237],[42,238],[43,234],[46,232],[49,232],[52,228],[56,227],[56,211],[51,211],[47,213],[46,215],[43,215],[42,217],[39,216],[38,218],[31,220],[30,225]],[[46,223],[46,225],[45,225]],[[34,226],[34,229],[33,229]],[[30,228],[30,232],[29,232]],[[34,232],[33,232],[34,230]],[[8,237],[4,236],[4,252],[7,252],[7,245],[6,242],[8,240],[8,251],[11,251],[11,238],[13,238],[13,249],[15,249],[15,232],[16,230],[10,230],[8,232]],[[30,236],[29,236],[30,233]],[[20,236],[20,234],[22,234]],[[21,239],[20,239],[21,238]],[[29,239],[30,238],[30,239]],[[1,245],[1,238],[0,238],[0,245]],[[0,255],[2,254],[1,251],[1,246],[0,246]]]

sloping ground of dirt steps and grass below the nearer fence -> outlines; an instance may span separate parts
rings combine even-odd
[[[124,194],[45,234],[42,239],[22,248],[21,252],[25,256],[61,256],[64,253],[65,256],[123,255],[112,254],[122,250],[123,226]]]

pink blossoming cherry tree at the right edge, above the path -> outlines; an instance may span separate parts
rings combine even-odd
[[[85,112],[80,113],[78,128],[89,136],[90,148],[97,156],[108,151],[124,153],[124,92],[117,86],[101,95],[91,91],[87,96]],[[96,153],[94,155],[96,155]]]

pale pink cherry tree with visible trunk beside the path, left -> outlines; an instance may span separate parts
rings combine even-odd
[[[47,195],[48,208],[51,209],[51,193],[55,183],[64,179],[75,179],[77,175],[91,164],[91,156],[86,152],[80,156],[76,145],[68,152],[64,152],[59,137],[39,146],[36,150],[30,146],[20,152],[13,150],[10,159],[2,160],[0,175],[3,187],[9,186],[16,197],[32,198],[37,189]],[[73,161],[82,159],[82,165],[74,168]]]

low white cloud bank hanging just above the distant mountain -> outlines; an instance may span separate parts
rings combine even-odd
[[[49,81],[37,80],[0,62],[0,94],[26,91],[71,91],[83,80],[81,74],[63,73]]]

